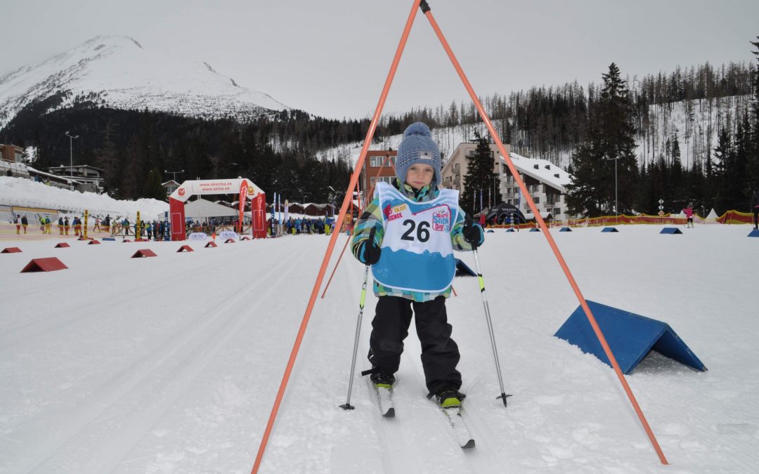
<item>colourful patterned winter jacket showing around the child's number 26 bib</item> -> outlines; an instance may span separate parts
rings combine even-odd
[[[429,201],[431,199],[435,199],[439,194],[437,187],[430,186],[423,187],[417,193],[417,191],[415,191],[414,188],[408,186],[408,184],[404,184],[403,187],[401,187],[397,179],[393,180],[392,185],[402,193],[405,193],[409,199],[412,199],[415,202]],[[461,233],[464,228],[464,223],[465,212],[463,209],[458,208],[456,221],[453,224],[453,230],[451,232],[451,243],[453,250],[471,250],[471,245],[466,240],[464,240],[464,234]],[[385,228],[383,226],[382,209],[379,209],[379,197],[376,195],[364,213],[361,214],[361,217],[358,218],[353,229],[351,250],[353,252],[353,256],[356,257],[356,259],[358,259],[358,244],[364,240],[369,239],[372,228],[376,229],[374,232],[374,243],[376,243],[377,246],[382,246],[383,237],[385,236]],[[385,287],[381,284],[378,284],[376,281],[374,281],[373,290],[374,294],[378,297],[403,297],[407,300],[417,302],[431,301],[441,295],[446,298],[451,296],[451,287],[446,288],[446,290],[442,293],[425,293],[421,291],[397,290],[395,288]]]

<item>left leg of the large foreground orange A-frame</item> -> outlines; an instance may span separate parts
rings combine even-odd
[[[406,25],[403,29],[401,40],[398,42],[398,48],[395,50],[395,56],[392,59],[390,71],[388,72],[387,78],[385,80],[385,86],[383,86],[382,94],[379,96],[379,102],[377,102],[376,110],[374,111],[372,121],[369,124],[369,130],[367,130],[367,136],[364,139],[364,146],[361,148],[361,155],[358,156],[356,168],[351,175],[351,182],[348,184],[348,190],[345,193],[345,198],[342,200],[342,206],[340,206],[340,215],[337,222],[335,223],[335,228],[337,229],[342,227],[342,222],[345,219],[345,212],[348,211],[348,204],[353,202],[353,196],[351,196],[351,193],[358,183],[358,175],[361,174],[361,167],[364,165],[364,160],[367,157],[367,150],[369,149],[372,137],[374,136],[374,130],[376,130],[377,122],[379,122],[379,115],[382,114],[383,106],[387,100],[387,95],[390,91],[390,85],[392,84],[392,80],[395,77],[395,71],[398,70],[398,63],[401,61],[403,49],[405,48],[406,42],[408,41],[408,34],[411,33],[411,26],[414,24],[414,17],[416,16],[417,8],[419,8],[420,2],[421,0],[414,0],[414,6],[411,7],[411,13],[408,14],[408,20],[406,20]],[[285,368],[285,373],[282,375],[282,382],[279,384],[279,391],[277,391],[277,395],[274,400],[272,413],[269,415],[269,421],[266,423],[266,429],[263,432],[263,438],[261,438],[261,443],[258,447],[258,453],[256,454],[256,461],[253,465],[253,469],[250,470],[250,474],[257,474],[258,469],[261,466],[263,453],[266,451],[266,444],[269,443],[269,436],[272,433],[272,428],[274,427],[274,421],[276,420],[277,413],[279,413],[279,406],[282,404],[282,397],[285,394],[285,389],[287,388],[295,359],[298,357],[298,350],[301,348],[301,342],[303,341],[303,336],[306,332],[308,320],[311,317],[313,304],[316,302],[317,296],[319,296],[319,288],[321,287],[322,281],[324,279],[324,274],[326,273],[327,265],[329,264],[329,257],[332,256],[332,250],[335,249],[335,242],[337,241],[338,234],[339,232],[333,232],[332,237],[329,238],[329,246],[327,246],[327,251],[324,254],[322,265],[319,268],[319,275],[317,275],[317,280],[313,283],[313,290],[311,290],[311,296],[308,300],[308,305],[306,306],[306,312],[303,315],[301,327],[298,329],[298,336],[295,337],[295,343],[293,344],[292,351],[290,353],[290,359],[288,360],[287,367]]]

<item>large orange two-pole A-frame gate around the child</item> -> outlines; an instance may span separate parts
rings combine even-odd
[[[359,174],[361,174],[361,168],[364,166],[364,160],[367,157],[367,150],[369,149],[369,145],[372,141],[372,138],[374,137],[374,131],[376,130],[377,123],[379,122],[379,116],[382,115],[382,109],[385,105],[385,102],[390,90],[390,85],[392,84],[392,80],[395,77],[395,71],[397,71],[398,69],[398,63],[401,61],[401,56],[403,55],[403,50],[405,49],[406,41],[408,40],[408,35],[409,33],[411,33],[411,27],[414,24],[414,17],[417,14],[417,9],[420,8],[421,11],[424,13],[424,16],[427,17],[427,20],[429,20],[430,25],[432,26],[436,36],[438,37],[440,43],[442,44],[442,48],[446,50],[446,54],[451,60],[453,67],[456,70],[456,73],[461,78],[461,82],[464,83],[465,89],[467,89],[467,92],[469,93],[469,96],[472,99],[472,102],[474,102],[474,105],[477,107],[477,111],[480,113],[480,118],[482,118],[483,123],[487,127],[487,130],[490,132],[490,137],[493,138],[493,141],[496,143],[499,151],[501,152],[501,158],[505,162],[505,165],[509,167],[509,170],[512,172],[512,176],[514,176],[516,183],[521,189],[522,196],[526,197],[528,205],[530,206],[530,209],[532,210],[533,215],[535,216],[537,220],[537,224],[540,226],[540,230],[543,231],[542,232],[543,237],[546,237],[546,240],[548,240],[549,246],[551,247],[551,250],[553,250],[553,253],[556,256],[556,260],[559,262],[559,265],[562,267],[562,271],[564,272],[569,285],[572,287],[572,290],[574,290],[575,296],[580,302],[580,306],[585,312],[588,322],[590,322],[591,327],[593,328],[596,336],[598,337],[601,347],[603,347],[603,351],[604,353],[606,353],[606,357],[609,359],[609,362],[612,364],[614,372],[616,372],[616,375],[619,378],[619,382],[622,384],[622,388],[624,388],[625,390],[625,394],[627,394],[628,399],[630,400],[630,403],[632,404],[632,407],[635,409],[635,413],[638,415],[638,419],[640,420],[641,425],[643,425],[643,428],[646,434],[648,435],[649,441],[652,444],[653,449],[656,451],[660,462],[662,464],[667,464],[668,462],[666,460],[666,457],[664,457],[664,453],[661,450],[661,447],[659,446],[659,442],[657,441],[657,438],[653,435],[653,431],[648,425],[648,422],[643,414],[643,410],[641,410],[641,407],[638,406],[638,400],[636,400],[635,395],[632,394],[632,391],[630,389],[630,386],[627,383],[627,379],[625,378],[625,375],[622,374],[622,370],[619,369],[619,364],[617,363],[616,358],[614,357],[614,354],[612,353],[612,350],[609,347],[609,344],[606,342],[606,337],[603,336],[603,332],[601,332],[601,329],[598,326],[598,323],[596,322],[593,312],[591,312],[591,309],[587,304],[587,300],[585,300],[585,297],[581,293],[580,287],[575,281],[575,278],[572,275],[572,272],[569,271],[569,267],[566,264],[564,257],[562,256],[562,253],[559,252],[559,247],[556,246],[556,241],[553,240],[553,236],[550,234],[550,231],[548,227],[546,226],[546,222],[543,221],[543,218],[540,217],[540,212],[538,212],[537,206],[535,205],[534,200],[531,198],[530,193],[528,193],[528,189],[527,189],[527,186],[524,184],[524,180],[521,179],[519,173],[517,172],[517,169],[514,163],[512,162],[511,157],[509,157],[509,153],[505,151],[505,147],[503,146],[503,143],[501,142],[498,133],[496,133],[495,127],[493,127],[493,124],[490,122],[490,118],[488,117],[487,112],[485,111],[485,108],[480,102],[480,99],[477,97],[477,94],[474,93],[474,89],[469,83],[469,80],[464,74],[464,71],[461,69],[461,65],[458,64],[458,60],[455,58],[455,55],[453,54],[452,49],[450,48],[445,37],[442,35],[442,32],[440,31],[432,15],[430,6],[427,4],[427,0],[413,0],[413,1],[414,1],[414,4],[411,6],[411,13],[408,14],[408,19],[406,20],[403,34],[401,36],[401,41],[398,43],[398,48],[395,50],[395,56],[392,59],[392,64],[390,66],[390,71],[387,74],[385,85],[383,86],[383,91],[379,96],[379,102],[377,102],[374,115],[372,116],[372,120],[370,121],[369,128],[367,130],[367,135],[366,135],[366,138],[364,139],[364,146],[361,148],[361,154],[358,156],[358,161],[356,162],[354,172],[351,175],[351,181],[348,184],[348,190],[345,193],[345,199],[343,199],[342,206],[340,206],[340,214],[339,214],[339,217],[337,218],[337,221],[335,222],[335,228],[337,229],[341,228],[342,223],[345,220],[345,213],[348,211],[348,205],[350,204],[351,199],[352,199],[351,191],[354,190],[358,182],[358,176]],[[261,438],[261,442],[258,447],[258,453],[256,454],[256,460],[254,461],[253,469],[251,469],[250,471],[251,474],[256,474],[258,472],[259,467],[261,466],[261,462],[263,460],[263,454],[266,451],[266,444],[268,444],[269,436],[272,434],[272,428],[274,427],[274,422],[276,420],[277,413],[279,413],[279,407],[282,404],[282,398],[284,397],[285,389],[287,388],[288,381],[290,379],[290,375],[292,373],[292,369],[295,364],[295,359],[298,357],[298,351],[301,348],[301,342],[303,341],[303,337],[304,337],[306,328],[308,326],[308,322],[311,317],[311,312],[313,311],[313,304],[316,303],[317,297],[319,295],[319,288],[321,287],[322,282],[324,281],[324,275],[327,270],[327,265],[329,264],[329,259],[332,256],[332,251],[335,249],[335,242],[337,241],[338,234],[339,234],[338,232],[334,232],[332,234],[332,237],[329,240],[329,245],[327,246],[326,253],[324,254],[322,264],[319,268],[319,274],[317,275],[316,281],[314,281],[313,289],[311,290],[311,295],[308,300],[308,304],[306,306],[306,312],[303,315],[301,326],[298,329],[298,335],[295,337],[295,342],[293,344],[293,347],[290,353],[290,359],[288,360],[287,366],[285,367],[285,373],[284,375],[282,375],[282,381],[279,384],[279,391],[277,391],[277,395],[274,400],[274,405],[272,407],[272,412],[269,414],[269,421],[266,423],[266,428],[263,432],[263,437]]]

